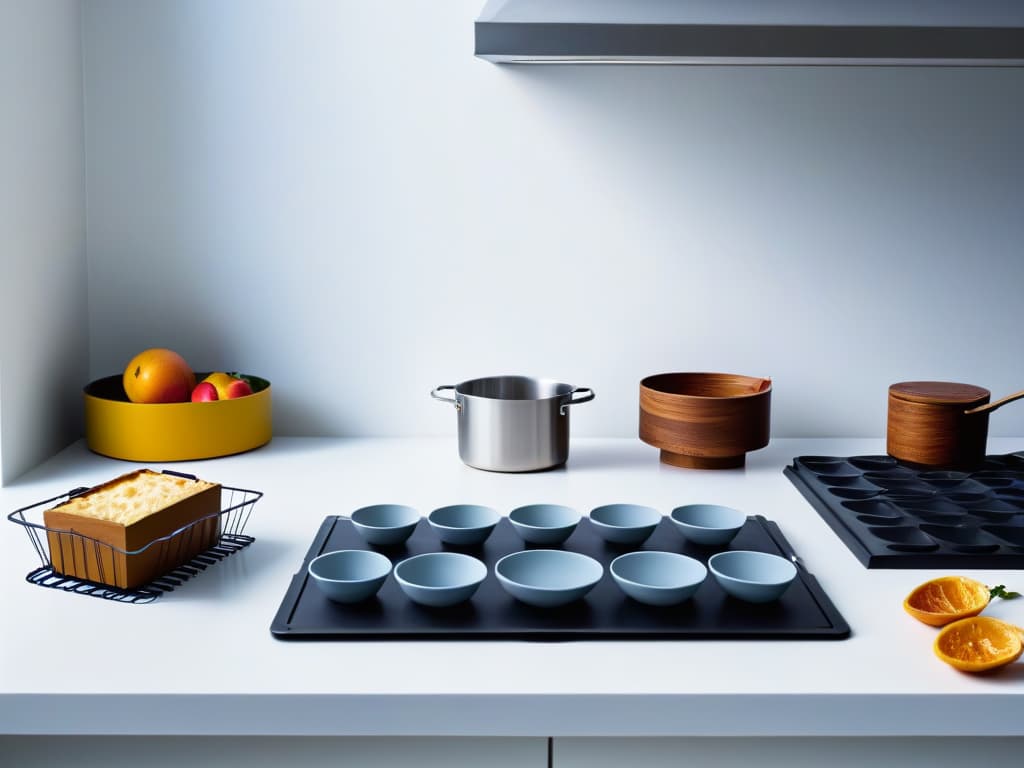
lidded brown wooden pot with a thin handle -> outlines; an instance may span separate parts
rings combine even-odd
[[[1024,397],[1024,391],[989,402],[991,393],[973,384],[903,381],[889,387],[886,450],[922,467],[970,469],[985,460],[988,415]]]

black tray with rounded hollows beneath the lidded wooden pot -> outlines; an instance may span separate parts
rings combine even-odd
[[[973,472],[890,456],[801,456],[785,468],[868,568],[1024,567],[1024,455]]]

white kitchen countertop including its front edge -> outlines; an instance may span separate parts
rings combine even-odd
[[[1020,450],[993,438],[989,453]],[[0,733],[223,735],[1021,735],[1024,662],[969,676],[902,609],[946,571],[865,569],[782,468],[885,452],[883,439],[775,439],[745,469],[662,465],[636,439],[574,438],[565,469],[464,466],[454,439],[276,437],[249,454],[148,466],[264,492],[248,549],[145,605],[30,585],[20,526],[0,536]],[[4,515],[137,466],[77,443],[0,488]],[[327,515],[610,502],[713,502],[776,521],[852,628],[847,640],[281,641],[269,632]],[[965,573],[1024,591],[1024,571]],[[1024,625],[1024,599],[986,613]]]

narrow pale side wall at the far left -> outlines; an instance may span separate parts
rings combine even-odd
[[[80,7],[0,0],[0,483],[82,433]]]

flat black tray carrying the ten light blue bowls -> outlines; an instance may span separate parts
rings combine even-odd
[[[499,558],[524,548],[507,518],[502,518],[481,548],[461,550],[487,565],[487,578],[473,598],[452,608],[425,608],[410,601],[388,577],[376,598],[357,605],[328,600],[309,580],[306,566],[324,552],[367,549],[351,522],[343,517],[324,520],[299,571],[282,601],[270,631],[283,639],[520,639],[604,640],[680,638],[808,638],[841,639],[850,628],[814,579],[798,561],[798,578],[768,605],[753,605],[726,595],[708,579],[693,598],[671,608],[642,605],[626,597],[611,580],[608,563],[625,549],[606,545],[586,517],[564,549],[583,552],[604,565],[604,575],[583,600],[559,608],[535,608],[510,597],[498,584],[494,565]],[[406,546],[380,551],[392,562],[423,552],[444,549],[426,520],[420,520]],[[706,562],[723,548],[697,549],[672,523],[663,519],[643,549],[682,552]],[[754,549],[793,555],[775,523],[750,517],[729,549]]]

